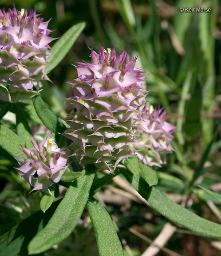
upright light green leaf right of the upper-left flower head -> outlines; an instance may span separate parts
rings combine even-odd
[[[46,72],[51,71],[63,60],[67,52],[69,52],[75,43],[76,39],[79,37],[80,33],[83,31],[84,27],[85,22],[75,24],[69,28],[59,40],[56,41],[51,48],[51,56],[47,58],[47,63],[51,64],[51,66],[45,68]]]

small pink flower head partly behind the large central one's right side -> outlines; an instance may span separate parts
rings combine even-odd
[[[166,108],[147,108],[142,113],[142,121],[134,129],[136,142],[132,148],[139,160],[150,166],[166,164],[166,155],[174,150],[171,141],[176,127],[166,122]]]

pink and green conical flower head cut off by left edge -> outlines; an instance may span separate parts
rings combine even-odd
[[[0,100],[16,102],[35,95],[51,55],[48,22],[27,8],[0,10]]]

